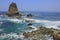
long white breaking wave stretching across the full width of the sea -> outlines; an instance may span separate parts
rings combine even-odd
[[[38,20],[38,19],[32,19],[32,18],[22,18],[22,19],[17,19],[17,18],[5,18],[0,20],[8,20],[11,22],[15,23],[22,23],[22,22],[32,22],[32,23],[42,23],[45,27],[47,28],[55,28],[55,29],[60,29],[60,21],[50,21],[50,20]]]

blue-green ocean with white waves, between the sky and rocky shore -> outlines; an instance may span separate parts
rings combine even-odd
[[[27,15],[31,13],[33,15],[32,19],[35,20],[32,23],[34,30],[37,30],[40,26],[47,28],[55,28],[60,30],[60,12],[22,12]],[[28,29],[28,23],[17,18],[9,18],[4,15],[4,12],[0,12],[0,40],[23,40],[24,32],[31,32],[33,29]],[[3,36],[5,35],[5,36]],[[18,35],[20,35],[18,37]],[[13,38],[14,37],[14,38]],[[12,39],[13,38],[13,39]],[[52,39],[51,39],[52,40]]]

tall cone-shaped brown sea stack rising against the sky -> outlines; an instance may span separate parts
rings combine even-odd
[[[16,16],[16,15],[19,15],[19,11],[18,11],[18,8],[17,8],[16,3],[12,2],[10,4],[7,15],[8,16]]]

